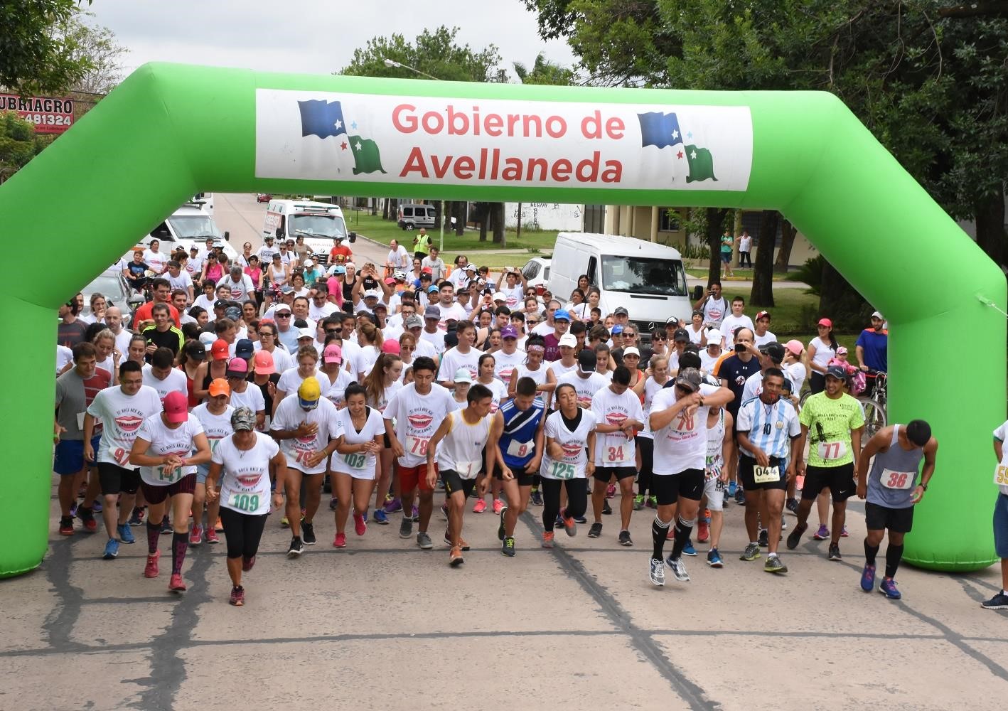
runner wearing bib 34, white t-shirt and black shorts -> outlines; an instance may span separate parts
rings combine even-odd
[[[588,538],[602,536],[602,505],[606,487],[615,479],[620,487],[620,546],[633,546],[630,516],[633,514],[633,482],[637,475],[634,433],[644,427],[640,398],[630,389],[630,370],[621,365],[613,371],[613,381],[592,397],[595,427],[595,485],[592,512],[595,522]]]

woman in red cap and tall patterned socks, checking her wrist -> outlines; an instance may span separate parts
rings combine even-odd
[[[196,489],[196,465],[210,461],[210,445],[203,425],[190,417],[185,393],[173,390],[165,395],[163,410],[143,421],[130,450],[129,463],[140,467],[140,487],[147,500],[147,563],[146,578],[156,578],[157,561],[161,552],[157,541],[161,536],[161,519],[170,501],[171,577],[168,590],[184,592],[182,562],[188,548],[188,518]],[[196,450],[196,454],[193,451]]]

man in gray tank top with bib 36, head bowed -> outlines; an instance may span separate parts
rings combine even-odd
[[[934,458],[938,443],[931,437],[931,428],[923,420],[909,425],[890,425],[868,441],[858,457],[858,497],[865,503],[865,568],[861,573],[861,589],[871,592],[875,587],[875,556],[886,530],[889,547],[885,552],[885,578],[879,592],[892,600],[901,595],[896,588],[896,569],[903,557],[903,537],[913,525],[913,506],[927,491],[934,473]],[[868,462],[874,457],[871,471]],[[917,470],[924,460],[920,480]]]

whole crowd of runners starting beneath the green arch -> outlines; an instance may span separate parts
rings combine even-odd
[[[242,605],[271,512],[290,529],[291,558],[317,544],[317,528],[345,548],[351,518],[361,537],[396,515],[399,536],[427,550],[443,491],[453,567],[469,551],[469,509],[496,514],[508,557],[530,506],[542,532],[521,544],[543,548],[580,524],[631,547],[637,513],[653,516],[647,576],[660,586],[666,567],[689,580],[695,541],[708,565],[725,565],[730,505],[744,506],[744,562],[765,551],[763,569],[785,573],[778,544],[798,546],[813,506],[813,538],[841,560],[857,494],[867,501],[862,587],[876,589],[888,532],[877,589],[900,597],[903,537],[937,443],[919,420],[863,437],[853,393],[886,370],[881,314],[855,364],[828,319],[809,344],[780,343],[770,314],[751,320],[717,283],[690,315],[642,325],[623,308],[602,313],[588,276],[552,294],[517,269],[494,279],[465,256],[449,266],[429,241],[417,245],[427,251],[393,243],[386,263],[356,263],[339,240],[321,268],[299,240],[267,238],[255,253],[246,244],[233,262],[209,240],[188,254],[152,243],[118,264],[149,300],[131,318],[102,294],[89,309],[81,294],[68,302],[59,534],[74,535],[75,518],[96,531],[100,515],[112,560],[142,530],[148,578],[170,535],[169,589],[183,591],[187,549],[223,531],[231,603]],[[799,407],[806,381],[813,394]],[[327,493],[331,523],[320,515]],[[789,531],[785,511],[796,515]]]

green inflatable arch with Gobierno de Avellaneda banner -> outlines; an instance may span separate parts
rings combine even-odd
[[[146,65],[0,188],[0,235],[56,256],[2,285],[4,323],[58,305],[199,191],[776,209],[889,321],[891,417],[926,418],[938,471],[920,567],[994,562],[1005,278],[833,95],[455,84]],[[36,242],[35,240],[41,240]],[[953,374],[947,334],[996,367]],[[52,330],[18,329],[0,576],[48,539]],[[956,525],[948,525],[955,520]]]

